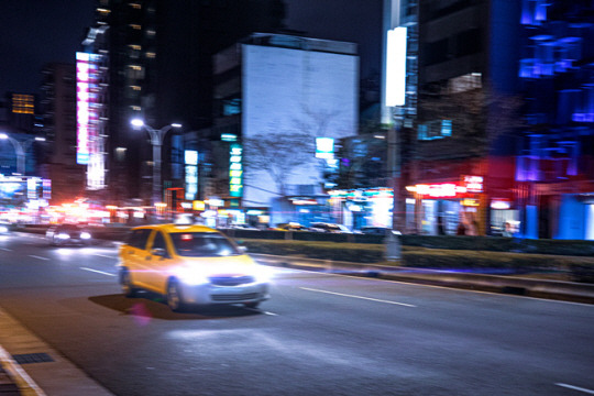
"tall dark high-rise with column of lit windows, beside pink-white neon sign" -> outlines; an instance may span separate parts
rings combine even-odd
[[[212,118],[212,55],[253,31],[274,31],[284,16],[280,0],[165,1],[97,0],[96,24],[85,52],[103,57],[107,90],[105,120],[109,197],[123,201],[151,197],[152,150],[141,118],[158,130],[173,122],[183,131],[208,125]],[[183,185],[180,139],[165,135],[163,184]],[[175,152],[179,152],[179,147]],[[172,163],[174,166],[172,166]]]

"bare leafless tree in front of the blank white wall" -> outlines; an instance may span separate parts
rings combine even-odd
[[[249,170],[264,170],[276,184],[276,194],[287,196],[287,180],[315,155],[314,138],[304,132],[260,133],[243,140]],[[248,183],[250,174],[246,173]]]

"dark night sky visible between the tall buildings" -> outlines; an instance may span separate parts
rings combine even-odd
[[[380,72],[382,0],[285,0],[287,29],[359,44],[361,75]],[[41,69],[74,63],[94,0],[0,0],[0,96],[38,94]]]

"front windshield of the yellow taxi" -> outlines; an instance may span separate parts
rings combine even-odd
[[[216,232],[178,232],[170,237],[180,256],[221,257],[243,254],[227,238]]]

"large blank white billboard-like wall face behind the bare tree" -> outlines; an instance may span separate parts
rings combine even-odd
[[[270,206],[279,194],[299,190],[321,193],[323,160],[316,158],[316,139],[356,134],[359,56],[251,44],[242,53],[243,141],[273,138],[278,150],[267,165],[286,160],[285,167],[263,169],[265,161],[254,158],[261,152],[245,146],[243,205]]]

